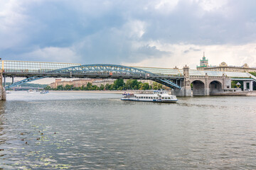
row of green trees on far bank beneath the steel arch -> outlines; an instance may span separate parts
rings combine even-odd
[[[106,84],[105,86],[101,84],[100,86],[92,85],[92,83],[87,83],[86,86],[74,87],[73,85],[59,85],[56,88],[51,88],[46,86],[45,90],[55,90],[55,91],[95,91],[95,90],[150,90],[150,89],[162,89],[163,85],[153,82],[152,85],[148,83],[142,83],[142,81],[137,81],[136,79],[129,79],[124,83],[124,79],[117,79],[114,84]]]

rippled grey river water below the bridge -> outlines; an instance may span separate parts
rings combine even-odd
[[[0,101],[0,168],[256,169],[256,97],[121,97],[7,94]]]

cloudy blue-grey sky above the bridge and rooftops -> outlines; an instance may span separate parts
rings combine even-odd
[[[256,67],[255,0],[1,0],[2,60]]]

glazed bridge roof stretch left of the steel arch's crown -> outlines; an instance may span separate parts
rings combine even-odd
[[[78,65],[80,64],[1,60],[0,67],[4,72],[50,72],[55,69],[73,67]]]

